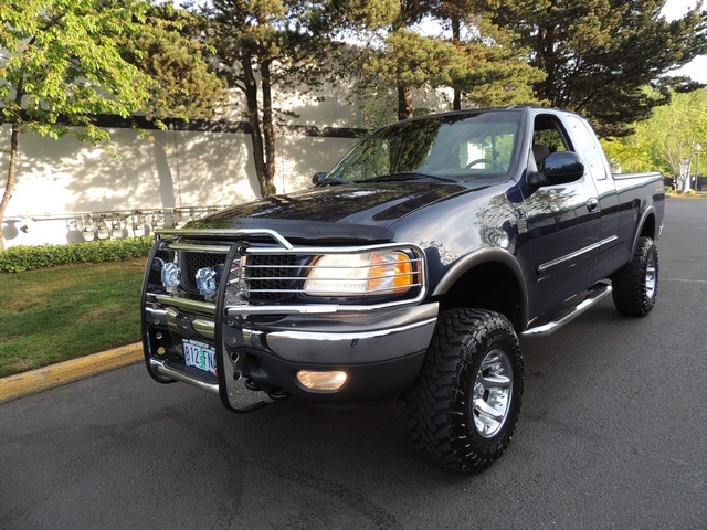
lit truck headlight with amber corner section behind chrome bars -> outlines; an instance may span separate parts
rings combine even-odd
[[[413,263],[401,251],[325,254],[309,271],[304,290],[316,296],[401,294],[415,285]]]

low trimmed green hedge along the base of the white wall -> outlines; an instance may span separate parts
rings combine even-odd
[[[18,245],[0,251],[0,273],[21,273],[74,263],[122,262],[133,257],[146,257],[154,242],[152,236],[143,236],[65,245]]]

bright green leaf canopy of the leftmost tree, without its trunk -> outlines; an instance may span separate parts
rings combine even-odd
[[[107,140],[92,116],[129,117],[155,86],[118,47],[139,35],[147,8],[136,0],[2,2],[0,49],[9,53],[0,65],[3,120],[20,132]]]

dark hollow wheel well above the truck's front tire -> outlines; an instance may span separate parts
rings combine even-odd
[[[525,327],[523,289],[505,265],[483,263],[467,271],[446,293],[439,296],[441,310],[488,309],[504,315],[516,330]]]

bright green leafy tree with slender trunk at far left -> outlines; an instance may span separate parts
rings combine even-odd
[[[198,98],[182,93],[180,99],[175,86],[182,80],[170,82],[167,75],[176,61],[165,61],[157,72],[155,57],[160,50],[155,43],[162,40],[173,49],[180,43],[173,40],[176,33],[168,32],[169,24],[154,15],[155,8],[141,0],[6,0],[0,4],[0,52],[4,54],[0,55],[0,116],[10,124],[0,221],[14,190],[20,134],[73,135],[97,145],[110,136],[94,125],[96,115],[197,113],[193,103],[184,100]],[[181,47],[189,49],[183,43]],[[191,57],[193,64],[198,54]],[[140,71],[133,64],[146,66],[148,60],[155,77],[145,72],[149,67]],[[165,105],[171,109],[165,112]]]

